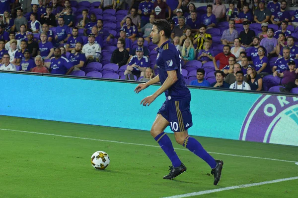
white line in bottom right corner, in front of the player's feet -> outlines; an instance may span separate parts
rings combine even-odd
[[[187,193],[187,194],[183,194],[183,195],[174,195],[174,196],[165,197],[165,198],[187,198],[187,197],[192,197],[192,196],[205,195],[205,194],[217,193],[217,192],[221,192],[221,191],[229,191],[229,190],[234,190],[234,189],[242,189],[242,188],[253,187],[253,186],[261,186],[261,185],[265,185],[265,184],[273,184],[273,183],[284,182],[284,181],[289,181],[289,180],[297,180],[297,179],[298,179],[298,177],[289,177],[289,178],[284,178],[284,179],[271,180],[271,181],[267,181],[267,182],[243,184],[243,185],[239,185],[239,186],[230,186],[230,187],[208,190],[208,191]]]

